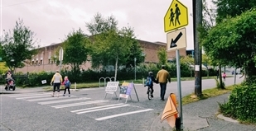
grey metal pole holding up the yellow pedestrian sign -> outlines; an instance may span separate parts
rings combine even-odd
[[[181,130],[183,130],[183,119],[182,119],[182,101],[181,101],[181,64],[180,64],[180,52],[176,49],[176,70],[177,70],[177,91],[179,94],[179,117],[181,119]]]

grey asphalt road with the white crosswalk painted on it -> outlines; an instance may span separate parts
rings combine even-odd
[[[237,78],[236,83],[239,82],[242,79]],[[233,84],[234,77],[226,78],[225,85]],[[194,81],[181,82],[182,96],[194,92],[194,85]],[[202,85],[203,90],[215,87],[215,80],[203,80]],[[137,84],[135,89],[139,101],[133,90],[132,100],[128,98],[127,103],[125,99],[118,101],[116,96],[111,95],[104,99],[103,87],[71,91],[70,97],[51,97],[51,92],[2,94],[0,130],[153,130],[156,118],[166,104],[166,101],[160,101],[160,87],[154,85],[154,98],[151,101],[147,100],[145,87]],[[167,84],[167,94],[176,91],[176,82]]]

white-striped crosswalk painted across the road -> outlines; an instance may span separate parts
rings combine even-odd
[[[78,96],[51,97],[50,95],[51,93],[28,93],[28,94],[15,94],[15,95],[12,94],[12,95],[9,95],[8,97],[12,97],[22,101],[30,101],[30,102],[36,101],[37,104],[50,105],[52,108],[55,108],[55,109],[67,108],[68,110],[69,109],[68,107],[70,108],[74,107],[77,110],[70,110],[70,112],[75,113],[76,115],[88,114],[91,112],[104,111],[104,110],[113,110],[113,109],[118,109],[118,108],[128,107],[128,106],[130,108],[138,108],[138,106],[135,107],[135,106],[131,106],[124,103],[108,105],[109,101],[91,100],[91,98],[89,97],[78,97]],[[60,103],[63,103],[63,104],[61,105]],[[99,103],[102,103],[102,104],[100,104],[99,106],[93,105],[93,104],[99,104]],[[86,108],[86,106],[88,105],[93,105],[93,107],[90,106]],[[80,106],[82,106],[82,108],[80,108]],[[113,118],[121,117],[124,115],[133,115],[133,114],[138,114],[138,113],[151,111],[151,110],[153,109],[135,110],[135,111],[120,113],[116,115],[100,117],[100,118],[96,118],[95,120],[113,119]]]

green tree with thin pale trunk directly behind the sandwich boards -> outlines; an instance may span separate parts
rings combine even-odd
[[[125,56],[127,56],[132,46],[132,43],[126,41],[125,32],[120,32],[118,30],[109,30],[97,35],[93,42],[93,53],[91,54],[94,66],[99,66],[99,64],[105,66],[107,63],[114,65],[115,78],[117,78],[118,61],[127,61],[128,58]],[[98,65],[95,65],[95,63]]]

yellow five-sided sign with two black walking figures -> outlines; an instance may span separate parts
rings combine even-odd
[[[187,7],[177,0],[172,0],[170,7],[164,16],[164,31],[176,30],[188,25]]]

